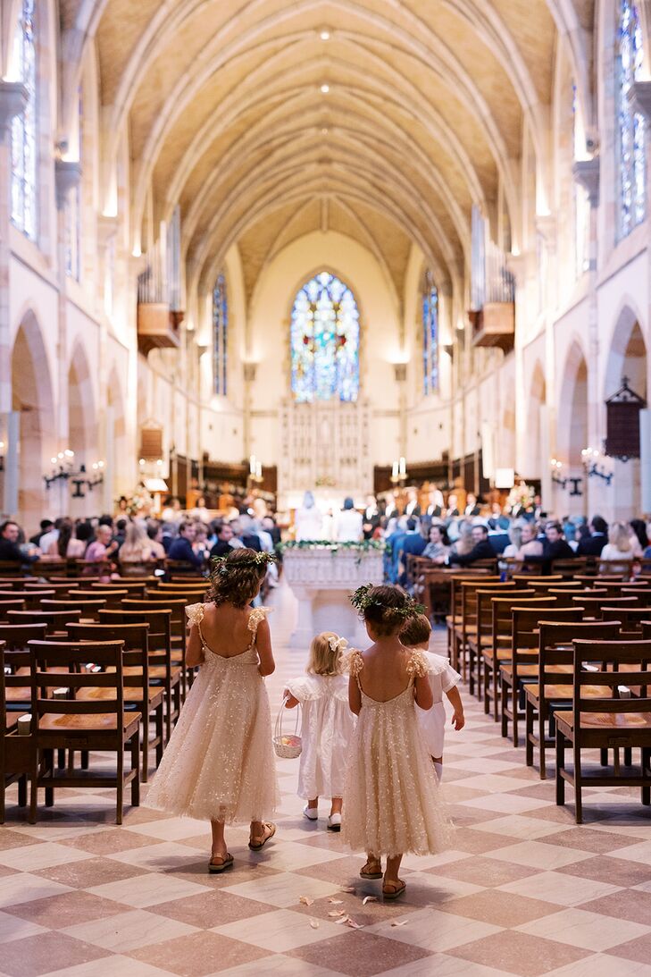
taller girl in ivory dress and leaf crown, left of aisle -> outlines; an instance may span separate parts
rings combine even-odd
[[[186,662],[201,668],[146,798],[151,807],[210,820],[211,872],[233,864],[225,824],[250,822],[253,851],[275,833],[264,820],[276,806],[278,787],[263,681],[275,665],[268,610],[249,607],[269,559],[241,548],[213,561],[211,600],[186,608]]]

